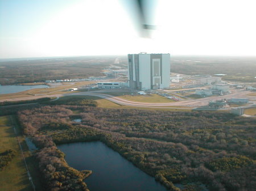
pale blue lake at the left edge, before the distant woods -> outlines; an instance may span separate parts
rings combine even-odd
[[[11,86],[1,86],[0,94],[12,94],[20,91],[32,90],[35,88],[46,88],[46,85],[36,85],[36,86],[22,86],[22,85],[11,85]]]

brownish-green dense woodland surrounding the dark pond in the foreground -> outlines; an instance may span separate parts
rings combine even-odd
[[[46,190],[86,190],[55,144],[102,141],[170,190],[255,190],[256,120],[229,113],[53,105],[19,111]],[[82,122],[73,122],[81,118]],[[86,182],[86,179],[85,179]]]

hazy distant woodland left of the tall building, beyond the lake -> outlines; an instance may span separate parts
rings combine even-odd
[[[0,84],[103,76],[116,57],[74,57],[0,62]]]

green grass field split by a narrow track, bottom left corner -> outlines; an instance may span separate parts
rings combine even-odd
[[[11,120],[11,117],[13,120]],[[17,151],[17,155],[13,160],[11,160],[10,165],[8,165],[4,171],[0,172],[0,191],[30,191],[33,189],[30,181],[28,180],[26,167],[24,165],[18,141],[15,137],[13,122],[15,123],[15,118],[13,116],[0,117],[0,152],[7,149]],[[19,128],[16,128],[16,130],[19,133]],[[35,170],[35,164],[32,161],[30,153],[28,152],[24,137],[19,136],[19,141],[24,150],[24,155],[27,160],[28,169],[31,172],[32,180],[34,181],[36,188],[38,188],[36,190],[40,190],[40,178],[38,177],[38,172]]]

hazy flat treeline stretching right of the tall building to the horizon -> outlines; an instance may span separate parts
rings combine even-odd
[[[226,74],[223,80],[256,82],[255,63],[256,57],[171,56],[171,72],[187,75]]]

